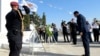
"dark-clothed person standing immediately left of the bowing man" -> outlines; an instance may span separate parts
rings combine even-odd
[[[70,34],[73,40],[73,44],[76,45],[77,44],[77,24],[74,22],[74,19],[72,19],[69,25],[70,25]]]

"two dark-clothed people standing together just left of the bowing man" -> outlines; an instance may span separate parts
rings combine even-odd
[[[68,27],[69,26],[69,29]],[[66,21],[62,21],[61,23],[61,27],[62,27],[62,33],[63,33],[63,37],[64,37],[64,42],[66,42],[66,38],[67,41],[70,42],[71,40],[73,41],[73,44],[77,44],[77,24],[74,22],[74,19],[72,19],[70,22],[68,22],[66,24]],[[68,30],[70,30],[70,33],[68,32]],[[70,39],[68,37],[68,35],[70,34]]]

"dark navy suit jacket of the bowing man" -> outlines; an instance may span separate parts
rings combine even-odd
[[[79,32],[83,33],[89,32],[88,27],[86,25],[86,18],[83,15],[79,14],[77,16],[77,24]]]

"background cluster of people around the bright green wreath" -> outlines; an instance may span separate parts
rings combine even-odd
[[[39,28],[38,33],[40,40],[44,40],[45,42],[58,42],[58,29],[54,23]]]

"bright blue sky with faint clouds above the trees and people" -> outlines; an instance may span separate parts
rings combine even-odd
[[[21,0],[20,0],[21,1]],[[19,1],[19,2],[20,2]],[[42,17],[45,12],[47,24],[55,23],[60,28],[62,20],[70,21],[74,11],[83,14],[87,21],[100,20],[100,0],[28,0],[38,7],[37,13]]]

